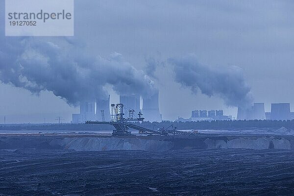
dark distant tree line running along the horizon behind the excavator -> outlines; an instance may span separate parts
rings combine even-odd
[[[249,121],[197,121],[197,122],[136,122],[135,124],[156,130],[161,127],[176,126],[178,129],[252,129],[252,128],[286,128],[294,129],[294,120],[269,121],[269,120],[249,120]],[[68,130],[68,131],[102,131],[113,130],[111,125],[102,124],[14,124],[0,125],[0,130]]]

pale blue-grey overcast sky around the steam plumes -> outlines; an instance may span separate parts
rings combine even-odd
[[[4,0],[0,2],[3,37]],[[92,55],[108,58],[119,52],[138,70],[144,70],[148,58],[166,62],[191,53],[206,66],[238,66],[254,101],[265,102],[266,111],[271,102],[290,102],[294,110],[293,10],[290,0],[75,0],[74,37]],[[163,119],[189,118],[194,109],[237,115],[218,96],[182,87],[174,81],[172,67],[159,64],[154,81]],[[110,94],[117,102],[118,95]],[[51,92],[38,97],[0,84],[0,117],[6,115],[7,123],[54,122],[56,116],[70,122],[78,111]]]

